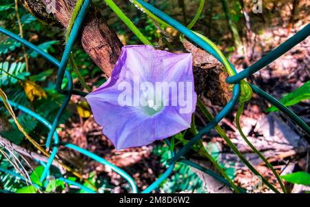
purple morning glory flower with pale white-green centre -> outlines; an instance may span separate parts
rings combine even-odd
[[[168,138],[190,127],[196,108],[192,54],[125,46],[112,76],[85,98],[117,150]]]

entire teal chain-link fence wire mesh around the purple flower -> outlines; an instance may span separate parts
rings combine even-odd
[[[189,30],[184,25],[178,23],[178,21],[172,19],[167,14],[154,8],[154,6],[150,5],[149,3],[146,3],[143,0],[136,0],[136,2],[141,4],[141,6],[143,6],[143,10],[149,12],[150,14],[153,14],[154,17],[157,17],[161,21],[171,25],[173,28],[176,28],[176,30],[178,30],[180,33],[187,36],[188,39],[191,39],[194,43],[196,43],[197,45],[202,47],[204,50],[209,52],[209,54],[211,54],[216,59],[218,59],[218,61],[223,63],[223,59],[220,58],[220,55],[218,54],[218,52],[216,52],[216,50],[214,50],[214,48],[211,47],[210,44],[207,43],[205,40],[203,40],[200,36],[192,32],[192,30]],[[118,173],[119,175],[121,175],[123,178],[127,180],[127,182],[130,184],[130,187],[132,189],[132,193],[138,193],[138,188],[136,186],[136,183],[134,182],[134,179],[130,175],[125,173],[125,171],[123,171],[121,168],[114,166],[114,164],[107,162],[102,157],[99,157],[98,155],[95,155],[94,153],[91,153],[90,151],[81,149],[79,146],[76,146],[70,143],[60,142],[59,136],[56,133],[56,127],[59,124],[59,119],[61,118],[63,111],[67,107],[72,94],[79,95],[79,96],[86,95],[83,91],[78,91],[78,90],[73,89],[72,76],[70,72],[66,69],[66,67],[68,65],[68,58],[72,51],[72,46],[74,45],[74,42],[76,41],[76,36],[78,36],[79,34],[81,25],[83,23],[83,19],[85,18],[85,15],[87,13],[87,8],[90,6],[90,3],[91,3],[91,0],[83,1],[83,6],[81,6],[81,10],[79,10],[79,14],[76,17],[76,20],[72,27],[72,31],[70,32],[68,43],[65,45],[65,51],[63,52],[63,56],[60,62],[57,61],[56,58],[54,58],[53,56],[50,56],[50,54],[47,54],[46,52],[43,52],[42,50],[40,50],[39,47],[32,45],[32,43],[25,41],[25,39],[22,39],[16,34],[13,34],[12,32],[0,27],[1,33],[5,34],[6,36],[10,36],[12,39],[19,41],[21,44],[25,45],[26,47],[29,47],[31,50],[34,50],[35,52],[41,54],[41,56],[43,56],[48,61],[50,61],[52,64],[54,64],[56,67],[58,67],[58,73],[57,73],[57,78],[56,78],[56,91],[59,92],[60,94],[65,95],[65,100],[63,101],[61,108],[59,109],[58,113],[56,114],[56,117],[54,118],[54,122],[52,123],[48,122],[45,118],[40,116],[38,113],[35,113],[34,111],[27,109],[15,102],[12,102],[10,100],[3,100],[3,102],[10,104],[12,107],[15,107],[25,113],[28,113],[30,116],[32,116],[33,118],[36,118],[37,120],[39,120],[39,122],[44,124],[45,127],[48,127],[48,129],[50,129],[50,132],[48,134],[48,139],[46,140],[46,143],[45,143],[45,147],[46,149],[52,149],[52,150],[49,155],[48,162],[46,163],[39,162],[44,167],[43,174],[41,175],[41,182],[47,181],[48,177],[50,177],[50,166],[52,165],[56,157],[59,146],[65,146],[67,148],[73,149],[74,151],[78,151],[79,153],[82,153],[83,155],[86,155],[87,157],[91,157],[93,160],[96,160],[96,162],[100,162],[101,164],[110,166],[110,168],[112,168],[113,171],[115,171],[116,173]],[[192,138],[192,140],[190,140],[185,146],[183,146],[182,149],[180,149],[178,152],[171,151],[172,158],[168,162],[169,167],[167,168],[165,173],[163,173],[161,177],[158,177],[158,179],[153,184],[148,186],[141,193],[151,193],[152,190],[155,190],[156,188],[158,188],[158,186],[173,172],[176,162],[181,162],[183,164],[187,164],[189,166],[197,168],[198,170],[203,171],[204,173],[207,173],[208,175],[211,175],[212,177],[218,179],[220,182],[223,182],[223,184],[226,184],[227,186],[231,186],[229,182],[227,182],[227,180],[223,178],[221,175],[218,175],[214,173],[213,171],[210,171],[209,169],[203,166],[200,166],[192,161],[185,160],[183,159],[182,156],[185,155],[185,153],[187,153],[187,151],[189,151],[189,149],[191,149],[192,146],[196,142],[198,142],[198,140],[200,140],[201,135],[205,133],[209,133],[209,131],[211,131],[212,128],[216,127],[218,122],[220,122],[220,120],[225,118],[225,116],[227,116],[227,114],[234,108],[238,98],[240,97],[240,80],[251,76],[255,72],[258,72],[258,70],[269,65],[269,63],[276,60],[278,57],[282,56],[282,54],[285,54],[285,52],[291,50],[292,47],[294,47],[295,45],[297,45],[298,43],[306,39],[307,36],[309,36],[309,34],[310,34],[310,23],[306,25],[298,33],[296,33],[294,36],[292,36],[287,41],[285,41],[285,43],[282,43],[281,45],[276,47],[276,49],[269,52],[269,54],[262,57],[259,61],[257,61],[253,65],[242,70],[242,72],[240,73],[237,73],[234,66],[231,65],[231,63],[229,63],[231,69],[233,69],[235,73],[234,76],[229,76],[229,78],[227,78],[226,80],[227,83],[234,85],[234,90],[232,93],[231,100],[229,100],[227,105],[223,107],[223,109],[214,117],[214,119],[211,120],[211,122],[209,122],[201,131],[199,131],[199,133],[196,136],[194,136],[194,138]],[[68,79],[68,87],[65,90],[61,89],[61,83],[63,82],[64,76]],[[285,113],[289,118],[291,118],[291,120],[293,120],[293,122],[298,124],[298,126],[305,133],[307,133],[307,135],[310,136],[310,127],[304,121],[302,121],[295,113],[293,113],[293,111],[285,107],[285,105],[282,105],[281,102],[276,100],[276,98],[273,98],[273,96],[270,96],[269,94],[267,94],[262,89],[259,89],[255,85],[251,85],[251,84],[249,85],[251,86],[251,89],[254,91],[254,93],[258,94],[258,96],[261,96],[262,98],[270,102],[272,105],[280,109],[280,111]],[[167,139],[166,141],[169,144],[169,141]],[[13,171],[9,171],[8,169],[0,168],[0,171],[4,173],[10,173],[11,175],[15,177],[24,179],[21,175],[14,173]],[[86,190],[89,193],[97,193],[96,190],[90,187],[83,186],[82,184],[79,184],[78,182],[72,182],[72,180],[65,179],[64,177],[57,177],[57,179],[60,179],[63,182],[67,182],[70,185],[78,186],[79,188]],[[40,187],[37,186],[37,188],[40,188]],[[239,190],[241,193],[245,193],[244,189],[239,188]]]

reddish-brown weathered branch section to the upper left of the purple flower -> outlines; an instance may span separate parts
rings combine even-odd
[[[53,18],[51,17],[52,14],[46,12],[48,6],[48,10],[54,14],[54,19],[65,28],[68,26],[75,3],[74,0],[59,0],[54,4],[50,0],[23,0],[25,8],[35,17],[43,21],[48,20],[50,23]],[[92,61],[107,76],[110,76],[123,45],[116,33],[109,28],[101,14],[93,6],[90,6],[85,17],[81,32],[81,43]]]

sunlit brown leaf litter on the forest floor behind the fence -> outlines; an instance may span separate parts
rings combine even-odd
[[[280,8],[274,8],[275,13],[273,14],[274,18],[272,22],[270,19],[261,19],[260,21],[258,20],[260,17],[254,16],[253,19],[255,21],[252,22],[255,23],[251,25],[250,31],[244,32],[243,36],[247,56],[240,56],[236,52],[230,53],[229,59],[236,66],[236,69],[240,71],[249,64],[256,62],[267,54],[267,52],[280,43],[283,43],[304,25],[309,23],[310,10],[307,8],[309,8],[309,2],[300,1],[300,10],[294,18],[292,27],[289,26],[291,19],[291,5],[289,4],[285,5],[283,3]],[[261,31],[259,32],[259,30]],[[226,40],[223,41],[223,45],[221,45],[223,48],[227,48],[225,43],[228,43],[230,41],[229,39],[230,37],[227,36]],[[276,98],[281,98],[309,80],[309,48],[310,39],[308,38],[294,47],[293,50],[268,65],[265,69],[256,73],[249,81]],[[80,99],[76,96],[72,98],[72,102],[77,102],[78,100]],[[220,107],[211,105],[208,100],[205,100],[205,103],[214,113],[220,110]],[[298,169],[309,171],[309,144],[304,139],[304,133],[291,120],[285,118],[282,113],[266,113],[265,111],[268,107],[270,105],[262,100],[262,98],[254,96],[240,118],[243,131],[251,142],[267,156],[279,173],[291,173]],[[310,124],[309,101],[301,102],[291,107],[291,109],[307,122],[307,124]],[[229,138],[238,146],[238,149],[256,166],[258,171],[267,177],[271,183],[276,184],[276,177],[251,152],[240,137],[235,127],[235,116],[236,112],[227,116],[227,118],[220,122],[220,125],[227,131]],[[94,122],[92,117],[87,119],[72,118],[69,123],[61,127],[63,128],[63,131],[59,132],[61,140],[77,144],[105,158],[105,160],[112,162],[116,166],[123,168],[134,177],[139,190],[143,190],[149,184],[152,184],[165,171],[165,166],[161,164],[160,157],[157,157],[153,153],[154,145],[163,144],[163,142],[155,142],[149,146],[116,151],[110,141],[102,135],[102,128]],[[236,184],[247,188],[251,193],[269,192],[265,186],[258,186],[255,190],[252,188],[258,184],[258,177],[254,176],[238,160],[238,157],[231,153],[227,144],[225,144],[224,140],[215,131],[211,131],[209,137],[205,138],[205,142],[216,142],[219,144],[221,152],[223,152],[220,153],[220,162],[223,162],[227,166],[234,163],[234,166],[229,167],[235,168],[234,182]],[[96,176],[107,178],[112,186],[118,186],[110,188],[114,193],[125,191],[125,179],[111,171],[110,168],[68,150],[61,151],[60,156],[63,160],[74,164],[74,166],[79,166],[80,170],[86,173],[86,175],[95,172]],[[278,184],[276,186],[280,190],[280,186]],[[293,186],[289,186],[288,184],[288,187],[292,188]],[[300,188],[295,187],[294,190],[294,192],[300,192]]]

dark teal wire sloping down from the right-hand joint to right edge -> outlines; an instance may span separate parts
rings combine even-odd
[[[310,127],[299,117],[296,115],[296,113],[293,113],[291,109],[288,107],[285,107],[285,105],[282,104],[282,102],[278,101],[276,98],[273,98],[273,96],[267,94],[265,91],[260,89],[259,87],[255,85],[251,85],[251,88],[253,89],[254,93],[258,94],[259,96],[262,96],[265,100],[269,101],[272,105],[277,107],[280,111],[285,113],[293,122],[298,124],[298,126],[305,132],[307,135],[310,136]]]

